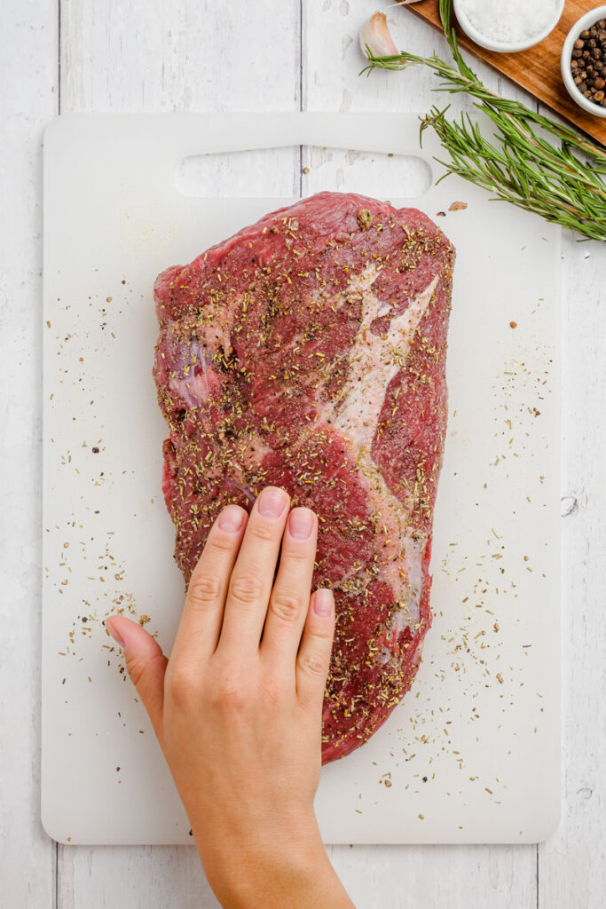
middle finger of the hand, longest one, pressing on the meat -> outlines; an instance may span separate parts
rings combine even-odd
[[[258,650],[290,499],[267,486],[253,504],[225,601],[217,649]]]

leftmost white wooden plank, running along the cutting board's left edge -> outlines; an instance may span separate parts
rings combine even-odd
[[[56,114],[54,0],[3,5],[0,53],[0,903],[53,905],[40,823],[42,141]],[[15,395],[6,395],[15,389]]]

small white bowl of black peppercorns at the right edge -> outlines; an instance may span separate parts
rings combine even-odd
[[[572,25],[561,49],[561,77],[583,110],[606,117],[606,6]]]

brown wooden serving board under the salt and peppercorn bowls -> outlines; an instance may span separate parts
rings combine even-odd
[[[516,54],[497,54],[484,50],[468,38],[460,28],[457,35],[461,44],[469,48],[476,56],[507,75],[513,82],[522,85],[531,95],[537,97],[543,104],[551,107],[557,114],[563,116],[572,125],[591,135],[601,145],[606,145],[606,119],[586,114],[578,105],[575,105],[571,96],[561,80],[560,55],[561,47],[572,25],[597,6],[596,0],[566,0],[564,12],[560,22],[540,44],[530,47],[527,51],[518,51]],[[410,8],[415,15],[421,16],[427,22],[436,25],[442,30],[438,0],[423,0]]]

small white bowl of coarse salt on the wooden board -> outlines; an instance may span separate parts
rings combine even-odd
[[[476,45],[512,54],[546,38],[558,25],[565,0],[453,0],[462,30]]]

